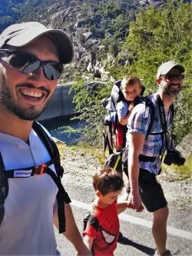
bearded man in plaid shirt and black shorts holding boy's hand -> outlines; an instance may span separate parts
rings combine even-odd
[[[153,212],[152,233],[157,246],[157,255],[170,255],[166,248],[167,240],[167,201],[156,175],[161,172],[161,155],[174,148],[168,133],[173,118],[173,102],[182,89],[184,67],[169,61],[157,71],[157,93],[148,96],[154,105],[154,117],[145,104],[136,105],[128,121],[127,151],[128,172],[131,191],[128,205],[141,211],[143,204]],[[153,127],[147,133],[151,118]],[[178,151],[177,151],[178,153]],[[142,204],[143,203],[143,204]]]

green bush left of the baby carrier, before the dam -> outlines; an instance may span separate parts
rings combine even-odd
[[[82,78],[72,85],[74,91],[75,110],[81,115],[78,119],[83,125],[80,128],[82,140],[91,145],[101,145],[102,138],[102,118],[105,109],[101,104],[101,99],[110,95],[111,83],[93,81],[86,83]]]

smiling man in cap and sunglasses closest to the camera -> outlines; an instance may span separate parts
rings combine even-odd
[[[32,127],[73,54],[65,32],[38,22],[11,25],[0,35],[0,254],[55,255],[53,224],[58,228],[61,210],[63,234],[78,255],[91,255],[64,189],[59,210],[57,168],[44,173],[51,156]],[[36,175],[28,176],[30,170]]]

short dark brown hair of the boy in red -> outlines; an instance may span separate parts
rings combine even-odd
[[[124,187],[124,181],[118,171],[104,167],[94,175],[93,186],[95,191],[98,190],[102,195],[105,195],[121,190]]]

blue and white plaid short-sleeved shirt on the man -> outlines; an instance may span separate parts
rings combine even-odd
[[[154,108],[158,109],[157,105],[157,95],[151,95],[151,101],[154,102]],[[158,112],[158,111],[157,111]],[[170,129],[171,125],[171,111],[169,111],[167,116],[167,128]],[[131,116],[128,121],[128,131],[127,131],[127,138],[129,133],[140,133],[142,135],[147,135],[147,129],[149,127],[151,121],[151,115],[149,108],[146,107],[145,104],[136,105],[131,112]],[[152,128],[152,133],[159,133],[162,131],[161,128],[161,119],[158,115],[157,120],[154,120],[154,125]],[[127,140],[127,147],[128,147],[128,140]],[[140,161],[140,168],[146,169],[154,173],[155,175],[158,174],[158,171],[161,169],[161,158],[160,155],[164,154],[165,145],[164,141],[162,140],[162,135],[147,135],[144,141],[144,147],[142,149],[141,155],[147,155],[149,157],[157,157],[156,161]]]

